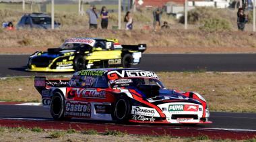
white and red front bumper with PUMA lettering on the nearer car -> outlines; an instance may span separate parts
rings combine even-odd
[[[132,123],[165,123],[165,124],[209,124],[209,111],[203,110],[201,104],[191,102],[168,102],[157,105],[158,111],[153,108],[135,106],[131,112]],[[137,110],[145,111],[146,113],[137,113]],[[135,113],[136,111],[136,113]],[[148,113],[151,112],[152,113]],[[156,113],[157,112],[157,113]],[[153,115],[152,115],[153,114]]]

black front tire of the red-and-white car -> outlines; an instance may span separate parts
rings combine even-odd
[[[113,119],[117,123],[127,123],[130,117],[131,103],[127,96],[119,96],[113,105]]]

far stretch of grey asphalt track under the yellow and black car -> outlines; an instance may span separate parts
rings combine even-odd
[[[0,76],[36,76],[57,73],[26,72],[28,55],[1,55]],[[164,71],[255,72],[256,54],[143,54],[133,68]],[[70,73],[69,73],[70,74]]]

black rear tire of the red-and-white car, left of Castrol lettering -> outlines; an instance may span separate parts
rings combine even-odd
[[[51,99],[50,111],[53,119],[62,121],[65,119],[64,115],[64,97],[61,92],[54,92]]]

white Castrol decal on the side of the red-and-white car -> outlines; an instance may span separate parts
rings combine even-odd
[[[70,102],[65,103],[65,115],[74,117],[91,117],[90,102]]]

